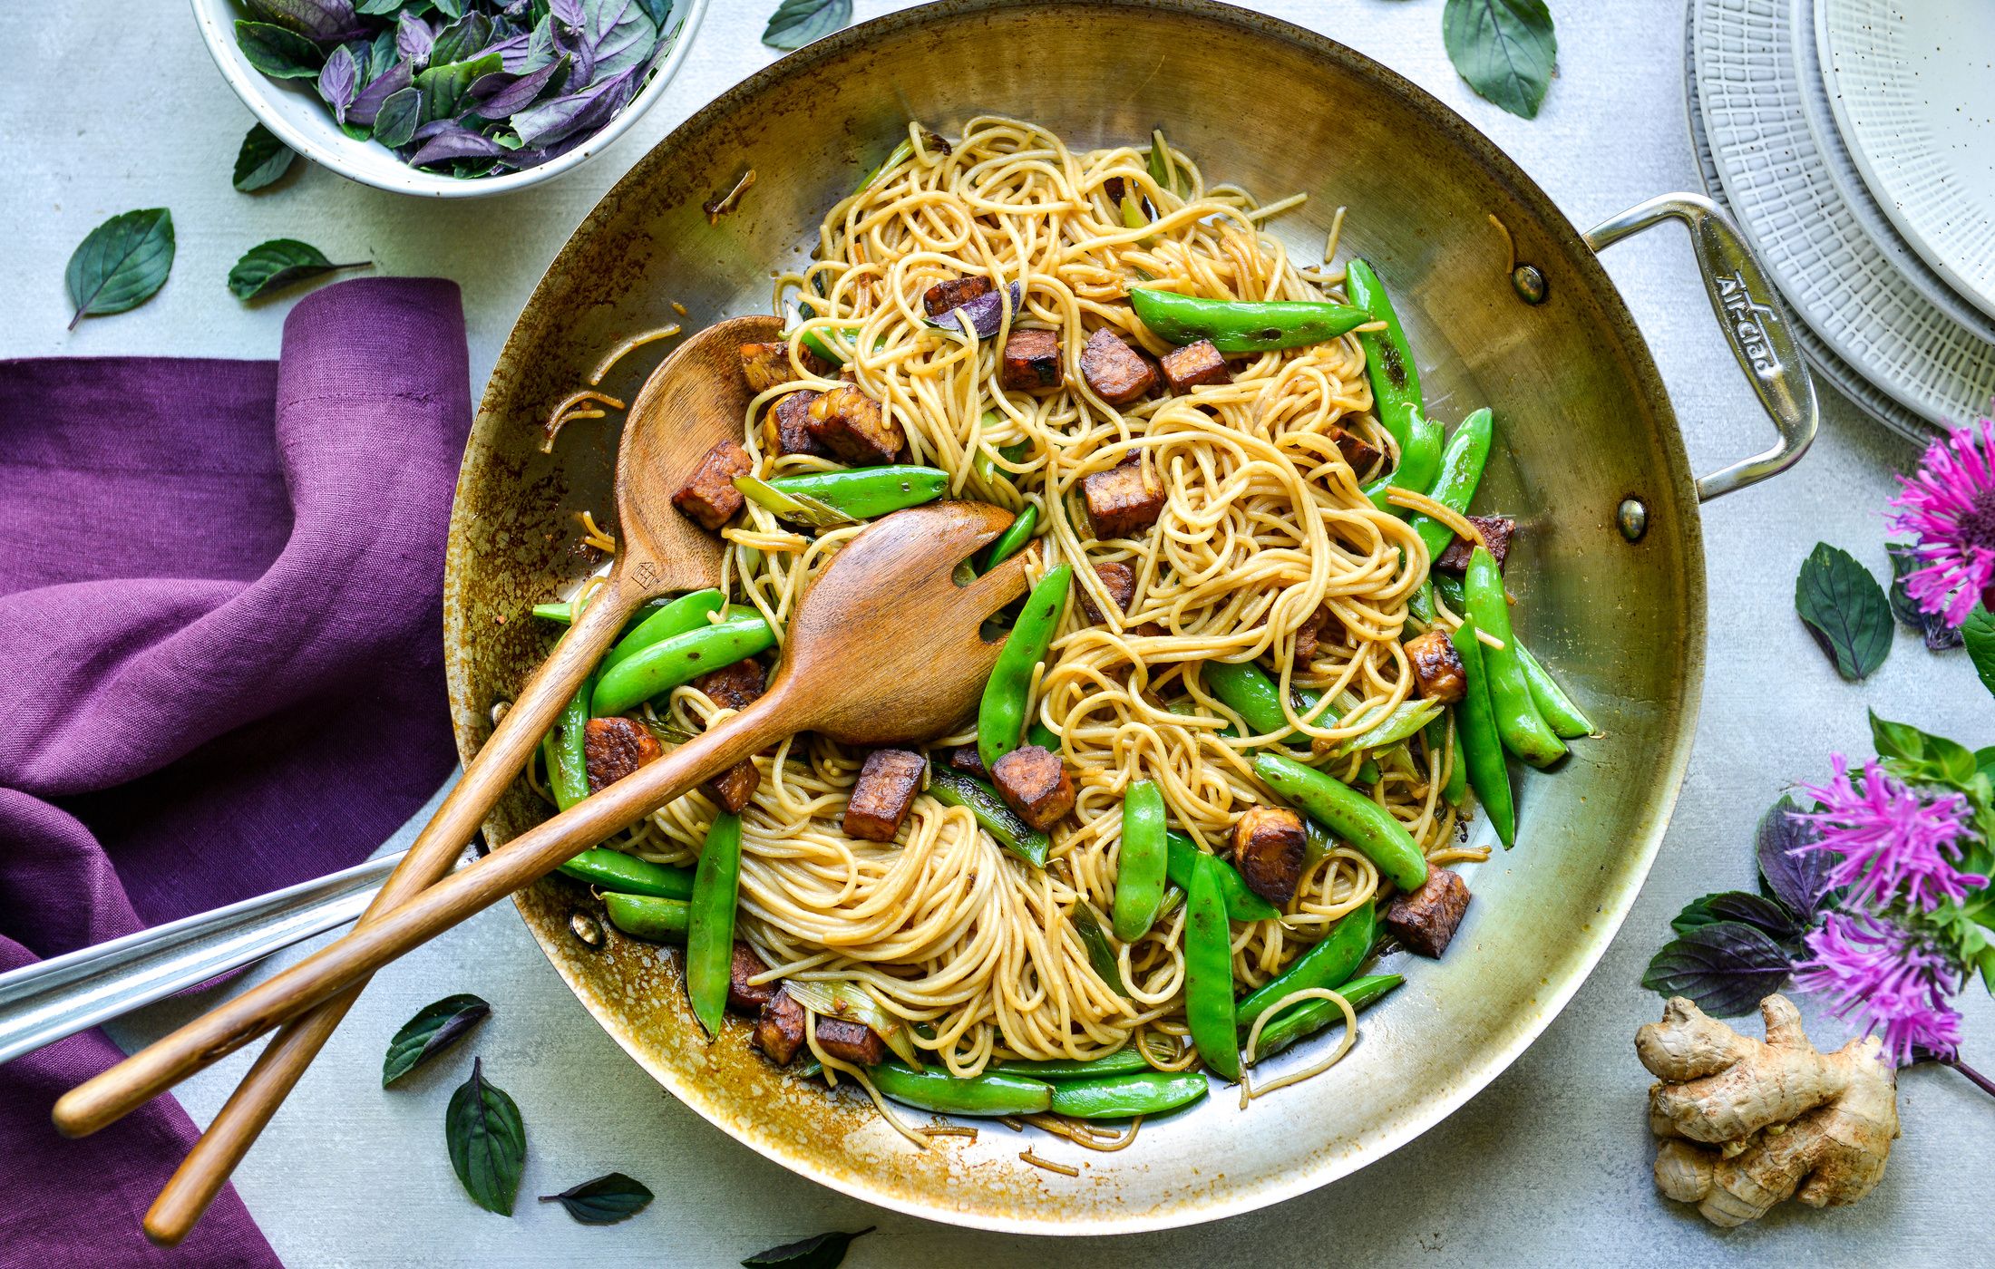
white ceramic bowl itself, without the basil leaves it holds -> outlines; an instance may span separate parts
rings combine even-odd
[[[706,0],[678,0],[672,8],[680,16],[672,48],[652,72],[650,82],[630,98],[630,104],[608,126],[585,144],[539,168],[471,180],[417,172],[395,158],[387,146],[355,142],[333,122],[333,112],[319,100],[311,80],[273,80],[249,66],[241,50],[235,48],[235,20],[243,16],[235,0],[194,0],[194,20],[201,24],[201,38],[207,42],[207,52],[213,54],[215,66],[221,68],[221,78],[229,82],[229,88],[243,100],[249,114],[277,134],[277,140],[313,164],[375,190],[393,190],[395,194],[417,194],[423,198],[483,198],[555,180],[563,172],[587,164],[630,130],[630,124],[636,124],[638,116],[650,110],[652,102],[664,94],[664,86],[678,72],[680,62],[686,60],[686,48],[692,44],[692,36],[700,28],[700,18],[706,14]]]

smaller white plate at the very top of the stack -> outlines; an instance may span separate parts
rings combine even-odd
[[[1835,124],[1877,206],[1995,315],[1995,4],[1821,0],[1813,34]]]

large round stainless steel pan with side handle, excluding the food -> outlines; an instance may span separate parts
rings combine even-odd
[[[602,932],[585,888],[547,880],[521,914],[591,1014],[660,1083],[764,1155],[856,1197],[938,1221],[1107,1233],[1205,1221],[1333,1181],[1434,1125],[1544,1030],[1600,958],[1650,868],[1684,776],[1704,676],[1698,501],[1774,475],[1815,427],[1788,317],[1734,231],[1696,196],[1666,196],[1592,233],[1488,140],[1391,70],[1321,36],[1205,0],[946,0],[846,30],[748,78],[652,150],[575,231],[521,315],[479,411],[457,487],[445,591],[451,706],[465,758],[519,688],[545,634],[527,609],[585,569],[573,515],[612,509],[614,435],[571,427],[539,453],[549,407],[618,337],[768,311],[768,275],[800,259],[822,212],[904,136],[984,112],[1049,124],[1069,144],[1141,144],[1163,126],[1209,180],[1263,198],[1303,190],[1275,221],[1321,249],[1349,204],[1345,249],[1395,289],[1428,405],[1498,411],[1486,489],[1522,521],[1510,583],[1532,646],[1606,738],[1552,776],[1526,772],[1518,848],[1474,870],[1448,956],[1367,1016],[1329,1075],[1241,1111],[1217,1093],[1147,1123],[1077,1179],[1017,1161],[1003,1129],[918,1153],[870,1105],[786,1081],[730,1028],[708,1046],[676,952]],[[756,184],[708,223],[700,206]],[[1512,287],[1498,215],[1542,301]],[[1594,253],[1676,217],[1690,225],[1722,337],[1778,445],[1694,479],[1648,347]],[[1526,287],[1528,289],[1528,287]],[[638,357],[612,391],[648,371]],[[525,790],[489,828],[545,814]],[[585,938],[591,936],[591,938]],[[597,946],[600,944],[600,946]],[[1307,1061],[1299,1046],[1281,1061]],[[1079,1153],[1041,1143],[1041,1153]],[[660,1143],[660,1149],[668,1149]]]

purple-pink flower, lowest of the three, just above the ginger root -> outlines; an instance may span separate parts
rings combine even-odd
[[[1961,1046],[1961,1016],[1947,1006],[1959,972],[1937,948],[1909,930],[1869,914],[1831,912],[1807,934],[1813,956],[1794,968],[1794,986],[1819,992],[1837,1018],[1883,1028],[1883,1050],[1897,1065],[1913,1048],[1953,1058]]]

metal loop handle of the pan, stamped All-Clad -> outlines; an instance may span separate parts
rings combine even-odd
[[[1718,327],[1780,431],[1780,441],[1766,453],[1700,477],[1698,501],[1708,503],[1780,475],[1807,453],[1819,425],[1815,383],[1807,363],[1801,361],[1801,349],[1794,343],[1794,313],[1768,281],[1738,227],[1712,200],[1702,194],[1660,194],[1594,225],[1586,233],[1586,245],[1602,251],[1666,219],[1680,219],[1690,229],[1690,247],[1698,253],[1704,291],[1712,297]]]

